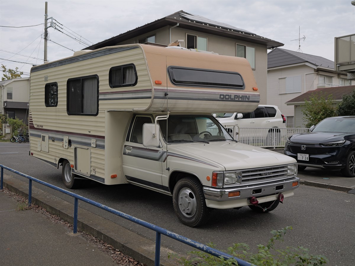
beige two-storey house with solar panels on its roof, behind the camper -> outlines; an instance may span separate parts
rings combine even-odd
[[[181,42],[181,46],[188,49],[245,57],[253,69],[258,84],[261,96],[260,103],[266,104],[267,70],[265,66],[267,64],[267,49],[273,49],[284,44],[182,10],[83,50],[134,43],[154,43],[167,46],[177,40],[184,40]]]

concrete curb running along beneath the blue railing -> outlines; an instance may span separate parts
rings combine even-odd
[[[24,198],[28,198],[28,183],[10,176],[6,176],[5,180],[4,174],[3,185],[12,192],[15,192]],[[32,187],[32,204],[43,207],[51,214],[59,216],[64,221],[73,224],[74,204],[70,204],[65,200],[35,187]],[[93,235],[103,242],[113,246],[115,249],[119,249],[123,254],[131,256],[147,266],[154,266],[155,242],[80,207],[78,207],[77,226],[81,231]],[[176,265],[174,260],[168,259],[168,253],[177,254],[177,252],[161,246],[160,265]],[[181,254],[178,255],[183,256]]]

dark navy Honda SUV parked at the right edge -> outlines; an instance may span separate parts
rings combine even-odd
[[[355,116],[328,117],[310,132],[292,135],[284,153],[297,160],[298,170],[309,166],[355,177]]]

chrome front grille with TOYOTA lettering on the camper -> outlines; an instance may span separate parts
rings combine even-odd
[[[287,178],[287,166],[273,166],[242,170],[242,184],[269,182]]]

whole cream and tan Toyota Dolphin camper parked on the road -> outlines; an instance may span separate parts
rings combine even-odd
[[[237,143],[211,115],[258,106],[244,58],[110,46],[33,67],[30,80],[30,154],[62,166],[67,188],[94,180],[172,195],[194,227],[211,209],[271,211],[298,187],[293,158]]]

